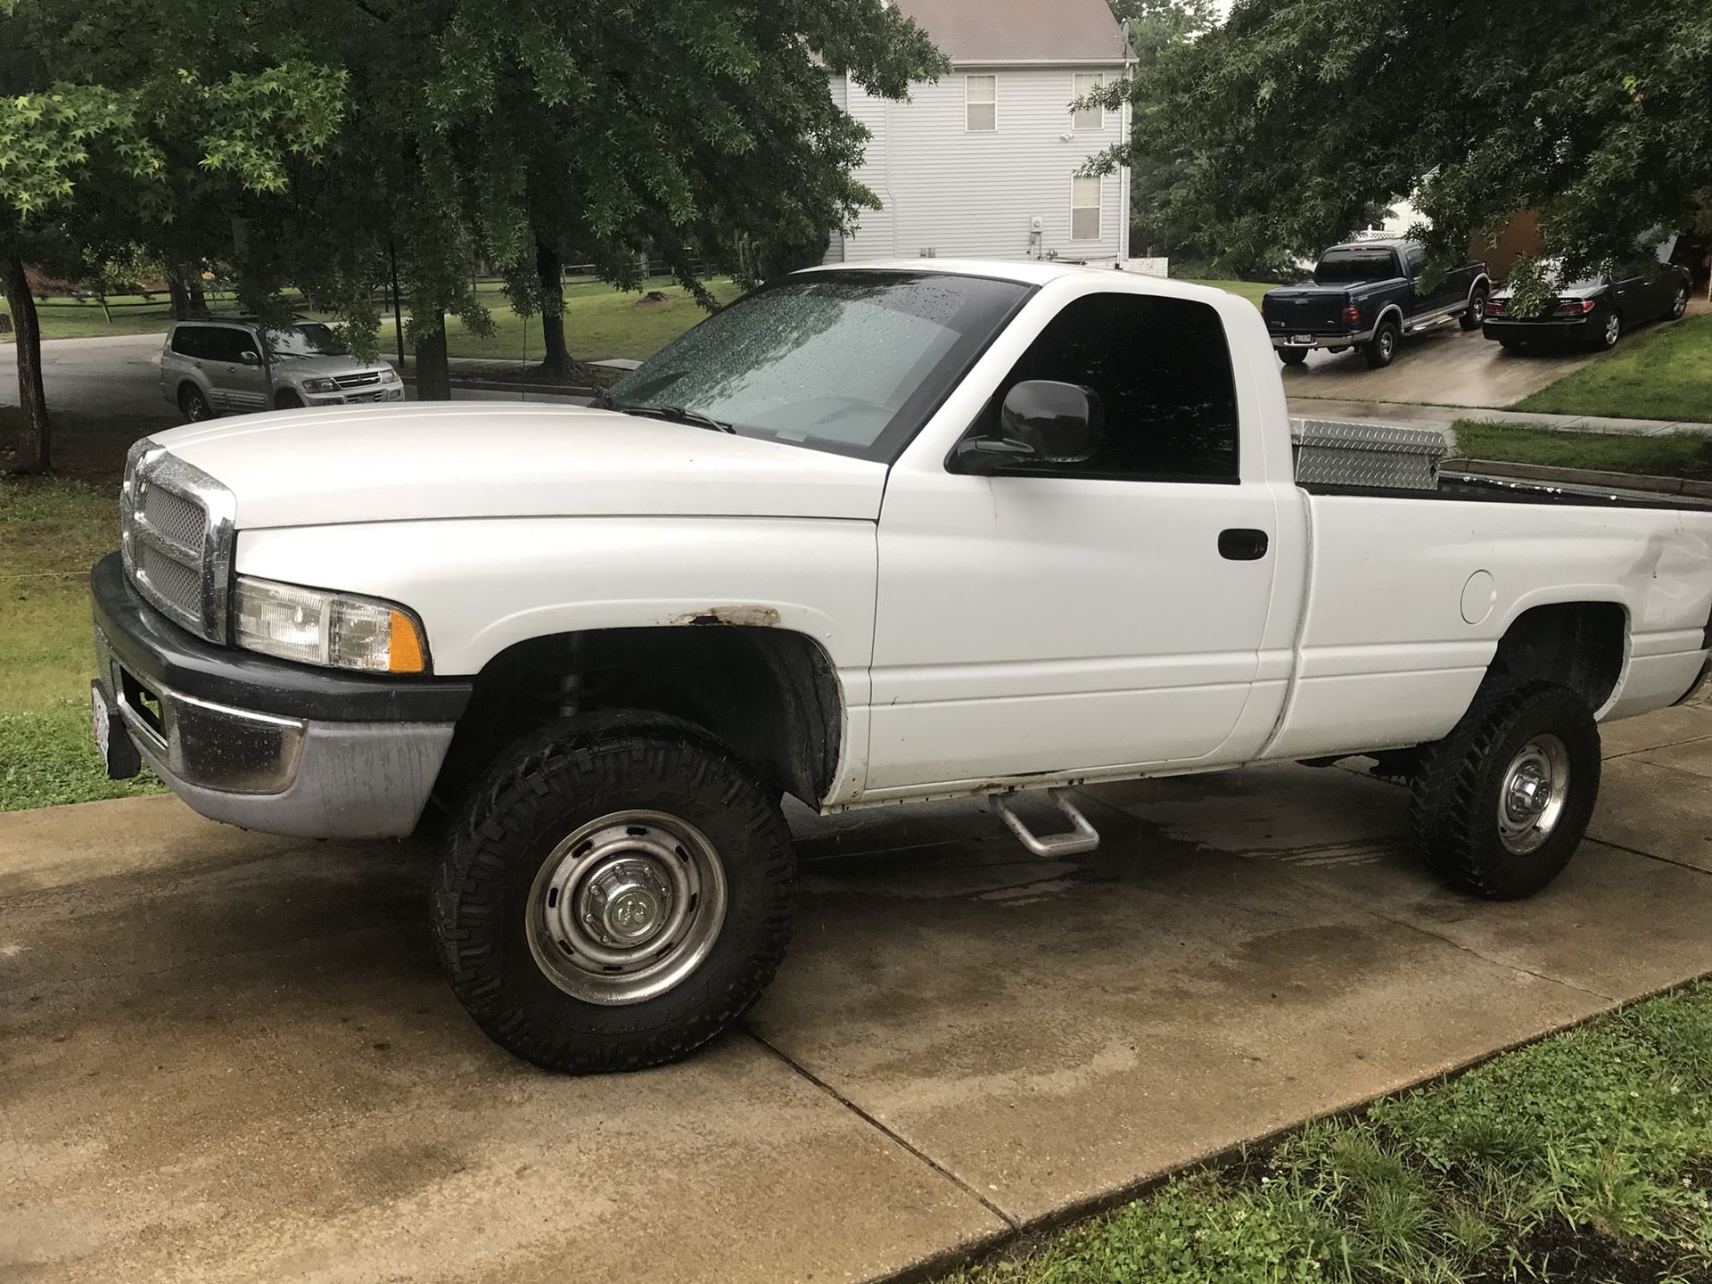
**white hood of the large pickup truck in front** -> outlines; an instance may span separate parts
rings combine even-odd
[[[885,466],[579,406],[341,406],[154,440],[226,484],[236,524],[683,515],[877,520]]]

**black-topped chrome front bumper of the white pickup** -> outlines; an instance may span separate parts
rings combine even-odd
[[[116,553],[94,565],[91,601],[101,697],[192,808],[300,837],[416,827],[469,683],[318,671],[212,645],[144,603]]]

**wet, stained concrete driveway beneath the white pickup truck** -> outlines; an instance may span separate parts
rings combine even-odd
[[[1272,767],[801,815],[772,991],[688,1063],[562,1079],[442,984],[426,853],[169,798],[0,815],[0,1279],[856,1281],[1712,971],[1712,710],[1608,729],[1524,904],[1402,851],[1404,791]]]

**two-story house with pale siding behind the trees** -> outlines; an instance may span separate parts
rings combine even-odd
[[[873,134],[856,176],[883,207],[834,236],[827,262],[914,259],[1113,260],[1128,253],[1130,175],[1077,169],[1128,135],[1128,106],[1072,111],[1130,65],[1106,0],[894,0],[954,67],[871,98],[846,75],[832,96]]]

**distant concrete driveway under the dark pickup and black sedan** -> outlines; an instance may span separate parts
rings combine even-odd
[[[1513,406],[1592,361],[1592,353],[1507,353],[1479,330],[1440,325],[1411,336],[1385,370],[1370,370],[1358,351],[1308,353],[1299,366],[1281,366],[1291,401],[1419,401],[1440,406]]]

